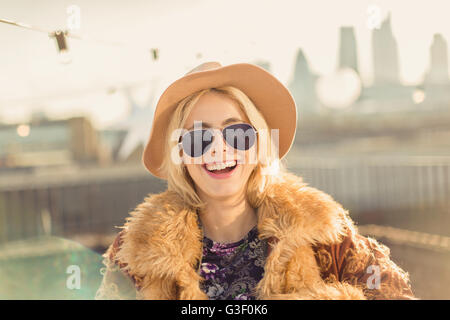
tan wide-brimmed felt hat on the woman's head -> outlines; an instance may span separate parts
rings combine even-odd
[[[297,108],[289,90],[257,65],[237,63],[222,66],[215,61],[205,62],[173,82],[159,98],[142,155],[144,166],[151,174],[166,179],[160,167],[164,158],[166,129],[177,103],[197,91],[222,86],[236,87],[252,100],[269,128],[279,130],[279,158],[286,155],[297,128]]]

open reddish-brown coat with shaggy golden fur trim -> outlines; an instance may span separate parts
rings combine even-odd
[[[269,242],[258,299],[415,299],[389,249],[360,235],[348,211],[291,173],[257,208]],[[201,291],[202,231],[174,191],[150,194],[104,254],[97,299],[208,299]]]

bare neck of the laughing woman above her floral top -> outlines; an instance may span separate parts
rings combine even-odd
[[[206,203],[200,212],[203,232],[213,241],[239,241],[257,224],[256,211],[247,201],[245,193],[229,199],[202,200]]]

